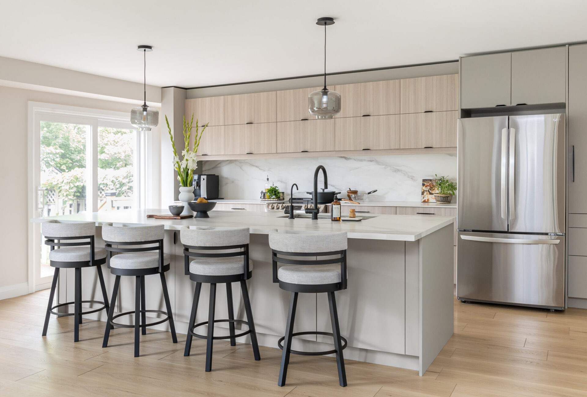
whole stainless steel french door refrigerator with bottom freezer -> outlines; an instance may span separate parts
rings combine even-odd
[[[458,120],[457,297],[565,307],[565,115]]]

